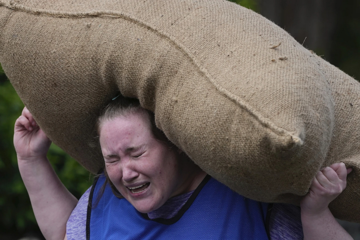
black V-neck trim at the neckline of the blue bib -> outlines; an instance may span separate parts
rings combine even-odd
[[[171,225],[174,224],[175,222],[179,221],[179,219],[184,215],[184,213],[186,212],[186,210],[189,209],[189,207],[191,206],[191,204],[193,204],[195,198],[198,196],[198,194],[200,193],[201,189],[205,186],[205,184],[210,180],[211,176],[210,175],[206,175],[204,177],[204,179],[201,181],[201,183],[199,184],[199,186],[195,189],[194,193],[190,196],[190,198],[186,201],[186,203],[184,204],[183,207],[180,208],[179,212],[177,212],[177,214],[172,217],[172,218],[154,218],[154,219],[150,219],[147,213],[141,213],[141,215],[145,218],[148,219],[150,221],[155,221],[158,223],[162,223],[165,225]]]

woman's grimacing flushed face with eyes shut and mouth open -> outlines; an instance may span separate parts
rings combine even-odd
[[[100,145],[111,182],[139,212],[148,213],[180,194],[179,153],[154,139],[137,112],[105,121]]]

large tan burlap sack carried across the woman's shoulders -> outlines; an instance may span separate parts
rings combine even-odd
[[[281,44],[280,44],[281,43]],[[238,193],[298,204],[316,172],[354,168],[330,205],[360,222],[360,86],[269,20],[223,1],[0,0],[0,62],[55,144],[84,167],[120,90]]]

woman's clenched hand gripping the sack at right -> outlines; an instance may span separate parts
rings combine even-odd
[[[346,176],[351,171],[344,163],[334,163],[319,171],[309,193],[301,200],[301,212],[315,216],[327,210],[329,203],[345,189]]]

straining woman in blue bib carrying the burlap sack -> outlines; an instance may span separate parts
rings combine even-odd
[[[244,198],[206,175],[163,136],[138,101],[113,100],[98,119],[97,132],[104,174],[77,204],[46,159],[50,141],[26,108],[15,123],[19,169],[46,239],[66,239],[66,231],[69,239],[286,236],[284,227],[267,229],[267,222],[279,228],[271,216],[281,214],[270,216],[269,204]],[[348,172],[338,163],[314,178],[301,201],[304,239],[352,239],[328,209],[345,188]]]

